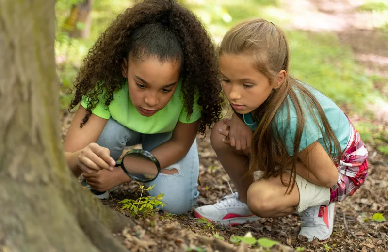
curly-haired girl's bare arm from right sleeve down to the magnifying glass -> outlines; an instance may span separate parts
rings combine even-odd
[[[200,121],[185,124],[178,122],[170,140],[151,151],[159,160],[161,169],[177,163],[186,156],[196,137]]]

